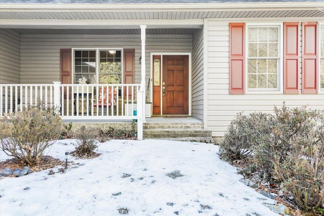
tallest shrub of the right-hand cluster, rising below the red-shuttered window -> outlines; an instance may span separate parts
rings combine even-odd
[[[273,175],[273,159],[283,161],[293,150],[296,142],[308,139],[316,131],[316,122],[322,118],[320,111],[307,110],[306,107],[289,108],[285,104],[281,108],[274,107],[274,115],[264,122],[256,120],[254,160],[264,170],[268,178]],[[318,136],[312,139],[323,139]],[[301,144],[300,144],[301,145]]]

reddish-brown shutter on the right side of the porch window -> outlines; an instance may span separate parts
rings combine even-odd
[[[135,50],[124,49],[124,84],[134,83],[135,73]],[[124,90],[124,96],[127,96],[126,88]],[[132,96],[131,89],[129,88],[129,97]]]

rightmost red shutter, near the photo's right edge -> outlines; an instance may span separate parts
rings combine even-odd
[[[317,22],[303,22],[302,35],[302,93],[317,94]]]

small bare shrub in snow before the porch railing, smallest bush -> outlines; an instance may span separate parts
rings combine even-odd
[[[71,152],[72,155],[91,157],[96,155],[95,150],[98,148],[98,130],[96,128],[80,127],[74,132],[76,139],[74,147],[75,151]]]

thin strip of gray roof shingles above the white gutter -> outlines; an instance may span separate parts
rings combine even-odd
[[[204,4],[323,2],[323,0],[0,0],[0,4]]]

